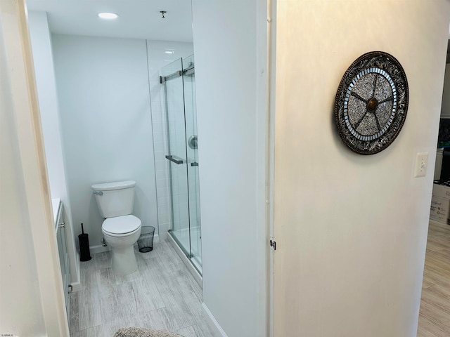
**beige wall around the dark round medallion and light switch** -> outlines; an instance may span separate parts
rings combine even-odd
[[[450,3],[277,4],[275,336],[416,336]],[[333,105],[368,51],[404,67],[409,110],[390,147],[361,156]]]

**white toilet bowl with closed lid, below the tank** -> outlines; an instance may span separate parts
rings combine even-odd
[[[101,225],[103,237],[113,251],[111,268],[117,275],[136,272],[138,264],[134,255],[134,244],[141,235],[141,220],[136,216],[108,218]]]

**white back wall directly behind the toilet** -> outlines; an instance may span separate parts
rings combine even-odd
[[[91,185],[136,180],[134,214],[157,234],[146,41],[56,34],[53,52],[75,232],[101,244]]]

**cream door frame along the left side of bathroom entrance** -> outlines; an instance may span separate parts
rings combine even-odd
[[[47,336],[68,337],[25,0],[2,0],[0,18],[42,317]]]

